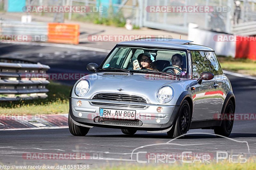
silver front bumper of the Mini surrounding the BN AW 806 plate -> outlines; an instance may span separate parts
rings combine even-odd
[[[78,100],[82,101],[82,106],[80,107],[76,105]],[[109,101],[100,101],[100,102],[109,103],[110,106],[94,105],[92,104],[92,102],[95,102],[95,100],[76,99],[76,98],[69,99],[69,114],[73,119],[73,122],[75,122],[75,124],[79,125],[80,123],[81,125],[92,126],[92,127],[95,126],[95,127],[116,128],[116,129],[136,129],[136,130],[157,131],[157,130],[164,130],[164,129],[170,128],[179,110],[179,106],[143,104],[145,108],[131,108],[131,107],[111,106],[111,102]],[[118,102],[118,103],[127,104],[124,102]],[[132,103],[129,103],[129,104],[132,105]],[[158,113],[156,111],[157,107],[163,107],[163,112]],[[121,121],[118,121],[118,120],[113,121],[111,119],[108,119],[108,121],[106,122],[100,122],[99,121],[100,108],[135,110],[136,118],[135,120],[121,120]]]

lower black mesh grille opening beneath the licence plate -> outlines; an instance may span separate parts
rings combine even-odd
[[[112,118],[101,118],[97,116],[94,119],[96,123],[104,123],[104,124],[116,124],[116,125],[129,125],[129,126],[142,126],[142,122],[140,120],[123,120],[123,119],[112,119]]]

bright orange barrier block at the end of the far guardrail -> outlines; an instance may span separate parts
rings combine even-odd
[[[79,43],[79,25],[48,23],[48,41],[55,43]]]

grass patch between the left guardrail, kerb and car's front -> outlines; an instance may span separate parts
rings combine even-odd
[[[68,113],[71,86],[51,82],[46,99],[0,103],[1,114],[59,114]]]

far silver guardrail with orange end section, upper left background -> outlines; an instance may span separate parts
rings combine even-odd
[[[0,41],[79,43],[79,24],[0,20]]]

